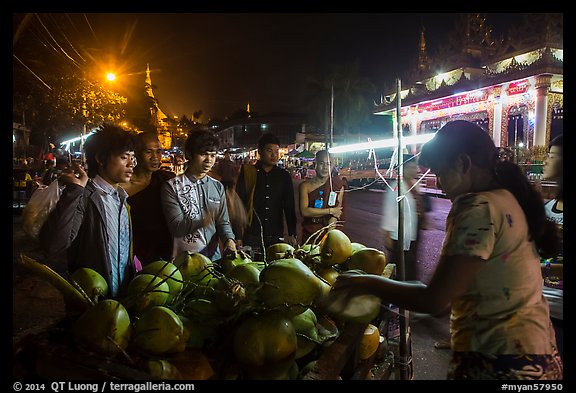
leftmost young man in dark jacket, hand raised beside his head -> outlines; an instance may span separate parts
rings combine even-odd
[[[108,283],[109,297],[118,297],[136,273],[128,194],[120,186],[136,166],[134,136],[105,124],[86,139],[84,151],[88,172],[74,164],[60,174],[65,188],[39,240],[49,256],[67,252],[70,273],[96,270]]]

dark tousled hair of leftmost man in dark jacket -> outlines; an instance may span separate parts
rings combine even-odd
[[[96,177],[100,165],[105,166],[112,156],[134,151],[134,137],[134,133],[114,124],[106,123],[98,127],[84,142],[88,177]]]

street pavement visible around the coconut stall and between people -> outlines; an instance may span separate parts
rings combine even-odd
[[[297,183],[295,182],[297,190]],[[297,195],[297,193],[296,193]],[[357,190],[346,194],[347,219],[344,232],[354,242],[367,247],[383,249],[380,222],[382,190]],[[422,282],[431,277],[444,237],[446,215],[450,201],[433,198],[432,211],[428,213],[428,229],[421,235],[419,266]],[[301,217],[298,217],[300,222]],[[31,243],[21,229],[21,216],[13,215],[13,340],[30,332],[42,331],[65,315],[61,296],[54,287],[42,279],[31,276],[18,266],[20,252],[33,258],[42,258],[38,247]],[[64,266],[55,267],[63,273]],[[434,348],[434,342],[448,337],[448,315],[440,317],[417,316],[411,318],[412,362],[414,379],[444,380],[450,350]]]

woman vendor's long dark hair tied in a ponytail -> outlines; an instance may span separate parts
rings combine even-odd
[[[467,154],[474,165],[494,171],[498,187],[506,188],[514,195],[524,211],[530,239],[536,243],[540,255],[544,258],[557,255],[560,250],[558,229],[546,217],[542,195],[518,165],[498,159],[494,141],[480,126],[465,120],[447,123],[422,147],[420,164],[437,172],[451,165],[462,153]]]

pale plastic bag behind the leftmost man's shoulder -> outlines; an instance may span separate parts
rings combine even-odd
[[[38,240],[40,229],[54,210],[62,190],[57,180],[49,186],[40,185],[32,193],[30,200],[22,211],[22,229],[34,240]]]

